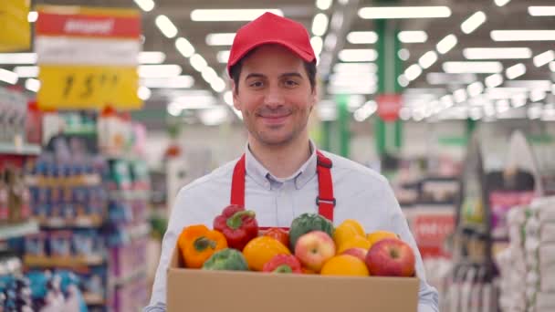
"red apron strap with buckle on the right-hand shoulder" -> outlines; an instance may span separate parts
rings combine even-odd
[[[319,189],[316,204],[318,205],[319,215],[333,222],[335,197],[333,197],[333,182],[331,181],[331,160],[320,151],[316,152],[318,157],[316,170],[318,172]]]

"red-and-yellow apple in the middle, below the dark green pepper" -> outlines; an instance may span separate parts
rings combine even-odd
[[[329,234],[312,231],[298,237],[295,255],[304,267],[318,273],[324,263],[335,255],[335,244]]]

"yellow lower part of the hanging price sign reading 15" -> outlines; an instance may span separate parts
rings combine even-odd
[[[141,109],[135,67],[40,66],[41,109]]]

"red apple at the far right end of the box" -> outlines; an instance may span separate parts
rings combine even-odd
[[[366,266],[371,276],[414,276],[413,248],[400,239],[383,239],[368,251]]]

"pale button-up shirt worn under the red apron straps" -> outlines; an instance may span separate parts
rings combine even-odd
[[[314,143],[310,144],[314,147]],[[437,291],[425,281],[422,257],[387,180],[354,161],[329,152],[323,153],[333,163],[331,178],[333,195],[337,200],[333,224],[337,226],[346,219],[355,219],[366,233],[391,231],[411,244],[416,256],[416,274],[421,280],[418,312],[437,312]],[[145,312],[165,311],[166,270],[177,237],[187,225],[205,224],[212,228],[215,216],[230,202],[236,161],[228,162],[184,186],[178,193],[162,240],[162,256],[156,271],[150,306],[144,308]],[[298,172],[287,179],[278,179],[246,148],[245,206],[255,211],[259,226],[288,227],[302,213],[318,213],[316,162],[316,152],[312,148],[309,160]]]

